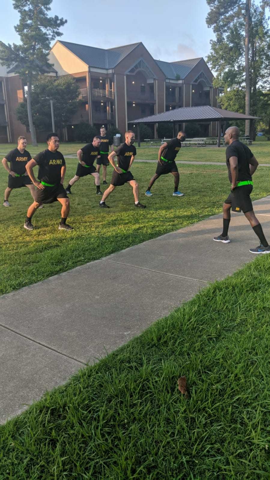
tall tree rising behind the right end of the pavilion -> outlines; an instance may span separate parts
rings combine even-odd
[[[256,90],[269,87],[270,33],[265,7],[245,0],[207,0],[210,7],[206,22],[213,27],[208,61],[216,71],[215,86],[245,91],[245,113],[256,115]],[[239,97],[240,98],[240,97]],[[242,98],[242,96],[241,96]],[[246,134],[249,124],[246,123]]]

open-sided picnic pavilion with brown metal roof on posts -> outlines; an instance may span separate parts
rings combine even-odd
[[[157,115],[151,115],[150,117],[144,117],[137,120],[132,120],[132,123],[137,125],[137,140],[138,146],[140,146],[140,123],[159,123],[159,122],[172,122],[173,124],[173,136],[176,136],[176,125],[178,123],[187,123],[194,121],[216,121],[218,123],[218,142],[217,146],[221,146],[221,121],[225,120],[250,120],[254,122],[258,117],[251,117],[250,115],[244,115],[243,113],[231,112],[230,110],[222,110],[221,108],[210,107],[209,105],[203,107],[184,107],[175,108],[167,112],[158,113]]]

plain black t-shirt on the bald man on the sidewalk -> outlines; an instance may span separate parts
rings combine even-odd
[[[232,183],[231,166],[229,162],[229,158],[231,158],[231,156],[236,156],[238,160],[237,181],[251,180],[252,177],[250,175],[249,160],[253,157],[253,153],[249,150],[249,148],[242,144],[242,142],[239,142],[239,140],[235,140],[226,148],[226,165],[228,168],[229,180]]]

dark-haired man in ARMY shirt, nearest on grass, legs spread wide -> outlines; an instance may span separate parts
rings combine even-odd
[[[27,230],[33,230],[34,226],[31,223],[31,218],[36,212],[40,204],[51,204],[53,202],[61,203],[61,222],[59,230],[73,230],[73,227],[66,223],[66,219],[70,210],[69,198],[63,187],[63,181],[66,171],[66,162],[60,152],[59,138],[57,133],[49,133],[47,136],[47,150],[38,153],[35,158],[32,158],[26,165],[27,173],[37,187],[36,201],[27,210],[24,227]],[[33,167],[38,165],[38,180],[35,178]]]

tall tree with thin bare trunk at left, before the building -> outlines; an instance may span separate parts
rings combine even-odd
[[[13,8],[20,13],[20,20],[14,29],[19,34],[21,44],[5,45],[0,42],[0,62],[13,67],[27,85],[27,114],[32,144],[37,146],[33,124],[31,100],[32,84],[40,73],[50,70],[48,61],[50,42],[61,36],[60,27],[66,20],[57,15],[50,17],[52,0],[14,0]]]

